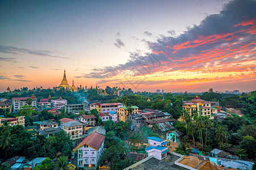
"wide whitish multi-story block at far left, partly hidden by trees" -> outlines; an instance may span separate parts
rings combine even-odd
[[[20,108],[23,107],[23,105],[28,105],[27,104],[27,99],[31,98],[32,99],[32,103],[31,103],[31,107],[36,108],[36,96],[32,95],[31,97],[13,97],[13,99],[11,99],[11,107],[13,109],[13,112],[17,112],[20,110]]]

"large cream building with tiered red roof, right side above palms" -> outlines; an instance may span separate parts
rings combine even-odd
[[[186,109],[190,115],[192,114],[192,111],[195,110],[199,115],[208,116],[210,119],[213,119],[213,114],[217,112],[217,109],[214,108],[216,106],[218,106],[218,102],[205,101],[200,99],[198,96],[183,104],[183,108]]]

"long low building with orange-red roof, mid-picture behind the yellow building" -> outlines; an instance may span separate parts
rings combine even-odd
[[[117,112],[118,108],[123,107],[122,103],[93,103],[90,109],[97,109],[98,113]]]

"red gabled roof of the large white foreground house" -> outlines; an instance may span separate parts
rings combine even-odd
[[[77,150],[78,148],[84,146],[84,145],[88,145],[96,150],[98,150],[101,145],[102,142],[104,141],[105,137],[104,135],[101,135],[97,132],[94,132],[93,134],[90,134],[89,136],[87,136],[80,144],[79,146],[77,146],[75,148],[75,150]]]

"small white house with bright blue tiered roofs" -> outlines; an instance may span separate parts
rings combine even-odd
[[[167,157],[168,147],[165,139],[157,137],[148,137],[148,147],[145,148],[147,156],[153,156],[155,159],[162,160]]]

